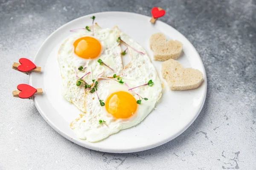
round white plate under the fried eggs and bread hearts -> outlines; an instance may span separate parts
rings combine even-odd
[[[204,74],[204,83],[195,90],[170,91],[165,82],[163,96],[152,111],[139,125],[121,130],[98,143],[89,143],[78,139],[70,122],[81,113],[73,104],[67,102],[60,93],[61,76],[57,63],[57,51],[61,43],[73,34],[70,29],[91,25],[91,16],[96,16],[96,23],[102,28],[117,25],[130,35],[148,52],[151,34],[162,32],[167,39],[179,40],[183,44],[183,54],[178,61],[184,67],[197,68]],[[32,73],[29,84],[35,88],[43,88],[44,94],[34,97],[35,106],[47,123],[68,140],[93,150],[111,153],[129,153],[147,150],[169,142],[179,136],[194,122],[200,113],[207,91],[207,78],[204,65],[193,45],[180,32],[157,20],[153,25],[150,17],[128,12],[101,12],[80,17],[58,28],[43,43],[35,56],[34,63],[42,67],[42,73]],[[162,62],[153,61],[160,74]],[[164,81],[164,80],[163,80]]]

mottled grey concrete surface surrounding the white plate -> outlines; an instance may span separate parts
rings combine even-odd
[[[151,150],[111,154],[73,144],[55,132],[30,100],[14,99],[28,76],[11,69],[33,59],[55,29],[86,14],[130,11],[176,28],[203,59],[208,92],[195,122]],[[0,169],[256,170],[255,0],[0,0]]]

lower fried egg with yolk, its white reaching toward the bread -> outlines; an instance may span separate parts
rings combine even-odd
[[[114,79],[98,79],[97,94],[99,99],[105,102],[105,106],[99,104],[96,93],[85,95],[86,113],[80,114],[71,122],[70,127],[79,139],[88,142],[101,141],[111,134],[139,124],[154,109],[161,97],[161,81],[146,51],[117,27],[114,29],[122,40],[145,55],[128,47],[131,62],[125,65],[122,71],[123,84]],[[153,86],[144,85],[132,91],[128,90],[143,85],[150,79],[154,82]],[[137,94],[148,100],[142,100],[140,105],[137,104]]]

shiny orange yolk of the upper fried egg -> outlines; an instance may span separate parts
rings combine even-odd
[[[74,52],[84,59],[94,59],[101,52],[101,44],[93,37],[81,37],[74,42]]]

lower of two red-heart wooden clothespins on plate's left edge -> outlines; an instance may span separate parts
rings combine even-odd
[[[43,93],[41,88],[33,88],[32,86],[26,84],[17,85],[17,89],[17,91],[12,91],[12,95],[21,99],[32,99],[34,94]]]

